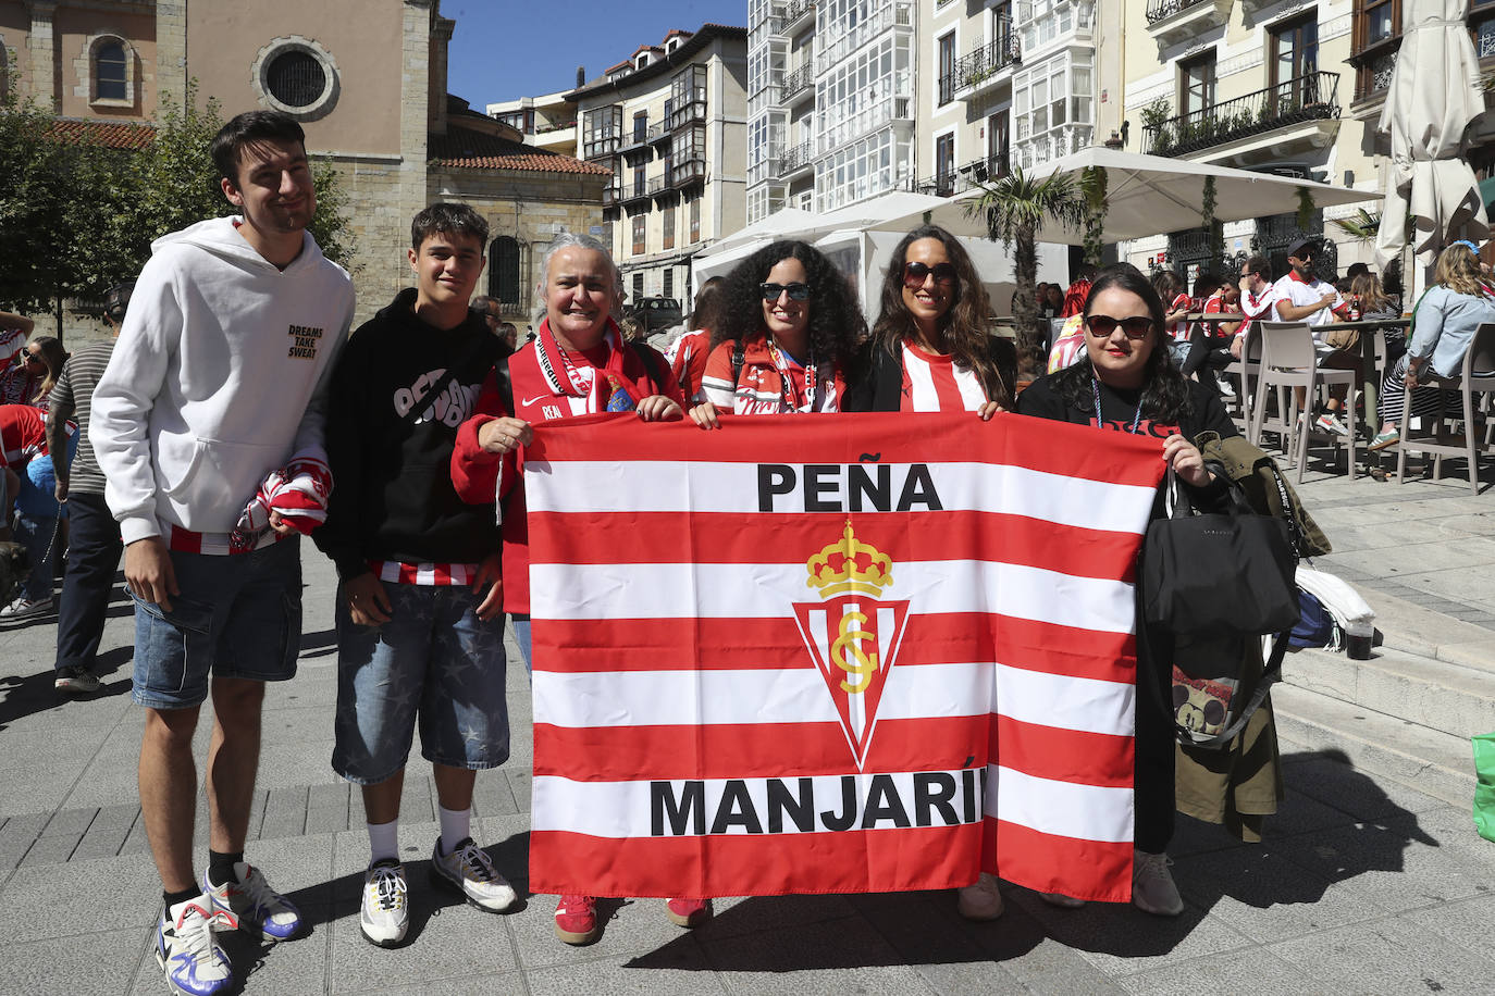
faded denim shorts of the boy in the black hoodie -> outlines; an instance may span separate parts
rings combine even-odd
[[[481,771],[508,760],[504,617],[477,617],[469,587],[384,584],[390,618],[357,626],[338,588],[338,715],[332,768],[360,785],[422,756]]]

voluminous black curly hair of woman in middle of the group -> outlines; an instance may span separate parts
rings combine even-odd
[[[728,339],[746,340],[767,334],[762,324],[762,291],[768,270],[795,258],[804,266],[810,288],[810,352],[816,363],[830,360],[845,370],[857,345],[867,336],[867,323],[851,285],[836,266],[807,242],[774,242],[733,267],[722,287],[721,321],[712,329],[712,348]]]

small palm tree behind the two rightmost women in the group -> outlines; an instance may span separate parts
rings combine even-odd
[[[1012,272],[1018,293],[1012,300],[1012,318],[1018,333],[1018,348],[1033,351],[1045,339],[1038,324],[1038,303],[1033,299],[1038,282],[1038,233],[1045,221],[1058,221],[1079,228],[1085,218],[1085,199],[1072,176],[1054,172],[1035,178],[1014,166],[1012,172],[981,185],[982,194],[970,208],[972,217],[985,215],[987,233],[1012,252]]]

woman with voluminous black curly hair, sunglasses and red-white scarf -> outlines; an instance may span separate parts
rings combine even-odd
[[[774,242],[727,276],[716,346],[706,360],[704,429],[716,412],[836,412],[845,369],[866,332],[846,278],[804,242]]]

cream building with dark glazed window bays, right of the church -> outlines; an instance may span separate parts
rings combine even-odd
[[[601,233],[629,297],[683,299],[691,257],[745,224],[748,30],[670,31],[565,99],[613,172]]]

